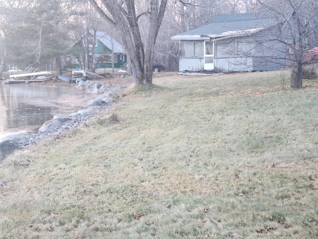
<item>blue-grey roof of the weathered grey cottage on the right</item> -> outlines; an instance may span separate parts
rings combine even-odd
[[[172,36],[172,40],[208,40],[211,38],[240,36],[256,33],[275,25],[269,13],[238,13],[216,15],[204,26]]]

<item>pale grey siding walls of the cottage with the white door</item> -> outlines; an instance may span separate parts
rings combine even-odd
[[[284,66],[280,65],[283,60],[280,58],[284,58],[286,55],[286,47],[274,39],[274,36],[270,38],[268,32],[264,31],[253,37],[244,36],[216,40],[214,71],[266,71],[283,68]],[[179,71],[204,71],[204,59],[180,57]]]

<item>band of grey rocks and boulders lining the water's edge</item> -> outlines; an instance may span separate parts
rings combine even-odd
[[[38,133],[13,133],[2,138],[0,142],[0,161],[15,150],[23,150],[29,145],[35,145],[46,137],[64,133],[77,127],[79,124],[96,117],[97,113],[107,111],[115,101],[111,96],[121,90],[119,85],[111,86],[90,80],[80,81],[76,86],[78,90],[98,94],[98,97],[87,104],[87,109],[79,110],[71,115],[56,115],[53,119],[46,121]]]

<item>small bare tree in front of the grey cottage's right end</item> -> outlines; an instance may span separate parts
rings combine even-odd
[[[275,20],[273,36],[287,49],[285,64],[292,68],[291,87],[303,86],[308,48],[318,45],[318,2],[316,0],[257,0],[256,9],[267,10]]]

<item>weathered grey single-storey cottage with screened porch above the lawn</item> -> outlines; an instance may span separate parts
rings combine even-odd
[[[171,37],[179,40],[179,71],[204,71],[204,58],[196,55],[204,41],[214,41],[214,71],[264,71],[286,68],[293,59],[288,44],[277,40],[284,23],[267,12],[216,15],[205,26]],[[278,27],[277,24],[280,24]],[[293,18],[291,18],[291,24]],[[285,39],[287,42],[290,39]],[[193,46],[190,44],[193,43]],[[211,61],[212,62],[212,61]],[[287,63],[287,64],[286,64]],[[212,67],[211,67],[212,69]]]

